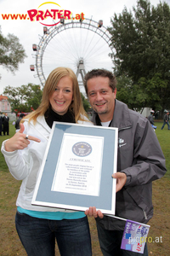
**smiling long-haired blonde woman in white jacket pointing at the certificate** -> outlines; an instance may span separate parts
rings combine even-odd
[[[31,205],[54,121],[91,124],[82,107],[77,77],[70,68],[58,67],[49,74],[39,108],[22,119],[20,131],[2,145],[9,171],[22,180],[16,202],[16,230],[29,256],[54,255],[55,238],[61,255],[92,255],[84,212]]]

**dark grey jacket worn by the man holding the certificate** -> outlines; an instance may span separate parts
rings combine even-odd
[[[111,127],[118,128],[117,172],[127,175],[116,193],[116,216],[146,224],[153,216],[152,181],[167,171],[161,146],[148,119],[117,100]],[[108,216],[96,220],[106,230],[124,230],[125,221]]]

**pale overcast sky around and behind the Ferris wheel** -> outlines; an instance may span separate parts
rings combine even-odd
[[[170,4],[170,0],[166,1]],[[42,4],[44,3],[44,4]],[[41,8],[46,9],[48,7],[49,2],[45,2],[43,0],[0,0],[0,25],[1,25],[1,31],[3,33],[3,36],[7,36],[8,33],[14,34],[17,38],[20,39],[20,44],[23,45],[24,49],[26,50],[26,59],[24,63],[20,63],[19,70],[15,72],[15,74],[8,72],[3,67],[0,67],[0,94],[3,94],[3,89],[10,85],[12,87],[19,87],[22,84],[40,84],[40,79],[37,76],[37,71],[31,72],[30,65],[35,65],[36,59],[35,59],[35,52],[32,50],[32,44],[39,44],[40,38],[43,36],[43,25],[39,21],[31,21],[31,20],[3,20],[2,14],[27,14],[27,10],[30,9],[38,9],[40,5],[42,5]],[[116,13],[116,15],[121,14],[123,8],[126,6],[127,10],[132,10],[133,6],[136,6],[137,1],[135,0],[86,0],[86,1],[77,1],[77,0],[57,0],[53,2],[53,6],[55,6],[57,9],[59,5],[61,9],[70,10],[73,15],[77,15],[80,13],[84,14],[85,18],[92,19],[95,21],[103,20],[104,26],[111,26],[111,17]],[[57,3],[57,4],[56,4]],[[151,5],[156,6],[160,1],[158,0],[150,0]],[[51,5],[50,5],[51,6]],[[50,7],[49,6],[49,7]],[[39,9],[41,9],[39,8]],[[50,18],[48,18],[49,20]],[[58,20],[57,20],[58,21]],[[45,21],[46,22],[46,21]],[[49,21],[48,21],[49,22]],[[49,22],[50,23],[50,22]],[[49,26],[48,26],[49,27]],[[70,49],[69,45],[73,44],[71,43],[71,30],[68,30],[69,33],[65,35],[55,36],[47,46],[47,52],[45,50],[44,52],[44,63],[46,64],[46,67],[48,66],[47,73],[52,71],[55,66],[69,66],[68,65],[68,58],[69,54],[73,52],[73,49]],[[93,37],[94,32],[91,32]],[[82,33],[82,35],[85,37],[85,32]],[[58,37],[58,38],[57,38]],[[77,49],[78,48],[85,48],[88,47],[88,44],[94,44],[93,45],[93,55],[97,48],[97,44],[95,41],[92,42],[86,42],[85,38],[83,39],[84,45],[82,46],[82,43],[79,41],[78,35],[74,34],[74,41],[77,41]],[[96,36],[95,37],[99,37]],[[56,41],[57,38],[57,41]],[[76,40],[75,40],[76,38]],[[81,39],[82,40],[82,39]],[[89,39],[88,39],[89,40]],[[103,43],[103,46],[105,50],[108,48],[108,45],[105,43],[104,40],[100,40]],[[67,45],[65,45],[63,42],[66,42]],[[93,43],[94,42],[94,43]],[[65,47],[60,50],[59,46]],[[49,50],[49,47],[53,47],[53,50]],[[101,47],[101,48],[102,48]],[[100,48],[100,46],[99,46]],[[52,49],[52,48],[51,48]],[[55,51],[56,50],[56,51]],[[69,52],[69,53],[68,53]],[[54,60],[54,55],[61,55],[61,59],[58,58],[58,61]],[[93,61],[93,55],[91,56],[91,66],[89,68],[95,68],[97,62],[100,61],[100,63],[103,65],[103,67],[107,67],[107,65],[110,65],[110,60],[108,58],[108,55],[104,58],[102,56],[102,59],[97,60],[96,62]],[[96,55],[100,55],[100,53],[96,53]],[[48,57],[48,61],[45,62]],[[70,56],[71,57],[71,56]],[[90,58],[90,57],[88,57]],[[42,58],[43,61],[43,58]],[[54,63],[53,63],[54,62]],[[76,65],[76,64],[75,64]],[[95,66],[95,67],[94,67]],[[109,69],[109,68],[108,68]],[[44,66],[44,72],[45,72],[45,66]]]

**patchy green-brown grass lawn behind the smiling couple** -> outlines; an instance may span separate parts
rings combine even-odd
[[[167,130],[167,126],[161,131],[162,122],[156,122],[156,125],[156,136],[166,158],[167,174],[165,177],[153,183],[154,217],[149,222],[150,233],[148,236],[148,247],[149,255],[167,256],[170,252],[170,131]],[[9,137],[13,136],[14,132],[14,126],[10,125]],[[7,138],[8,136],[0,137],[0,144]],[[14,227],[15,201],[20,189],[20,182],[16,181],[8,172],[8,167],[1,153],[0,163],[0,255],[25,256],[26,252],[20,243]],[[102,256],[99,249],[94,218],[89,218],[89,224],[92,236],[93,255]],[[57,247],[56,255],[59,255]]]

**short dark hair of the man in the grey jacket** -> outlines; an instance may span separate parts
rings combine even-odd
[[[106,70],[104,68],[93,69],[85,75],[83,80],[87,95],[88,95],[88,86],[87,86],[88,80],[97,78],[97,77],[108,78],[110,80],[109,86],[111,87],[111,90],[113,92],[116,90],[116,77],[113,73],[111,73],[111,71]]]

